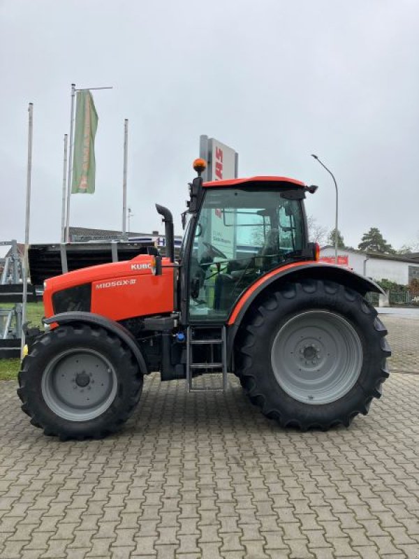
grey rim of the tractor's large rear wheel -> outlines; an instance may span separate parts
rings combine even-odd
[[[328,404],[344,396],[360,376],[362,344],[349,322],[330,311],[297,314],[280,328],[271,351],[281,389],[299,402]]]

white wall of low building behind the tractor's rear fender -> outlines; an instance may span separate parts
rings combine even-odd
[[[335,262],[335,247],[327,245],[320,251],[321,260]],[[411,254],[378,254],[355,249],[339,249],[338,263],[376,281],[389,279],[401,285],[419,280],[419,252]]]

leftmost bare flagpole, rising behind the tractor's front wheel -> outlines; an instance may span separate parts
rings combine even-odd
[[[28,298],[28,248],[29,248],[29,222],[31,219],[31,176],[32,176],[32,136],[34,130],[34,103],[29,103],[29,123],[28,123],[28,163],[27,163],[27,193],[26,193],[26,212],[24,219],[24,256],[22,261],[22,326],[26,322],[26,305]],[[23,348],[25,335],[22,328],[20,342],[20,357],[23,358]]]

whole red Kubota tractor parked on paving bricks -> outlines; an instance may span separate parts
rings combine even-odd
[[[318,261],[304,198],[316,187],[285,177],[189,185],[175,260],[172,215],[166,256],[75,270],[45,282],[45,333],[29,335],[18,394],[46,435],[104,437],[140,400],[142,379],[228,372],[251,402],[284,427],[343,424],[367,414],[388,377],[387,331],[374,283]],[[33,333],[33,329],[31,329]]]

